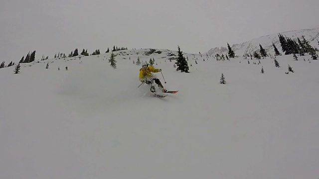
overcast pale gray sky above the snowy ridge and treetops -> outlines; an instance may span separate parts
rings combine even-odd
[[[2,0],[0,62],[113,45],[198,53],[318,19],[319,0]]]

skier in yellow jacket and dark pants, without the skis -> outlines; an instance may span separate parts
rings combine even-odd
[[[163,85],[160,83],[160,80],[154,77],[151,72],[158,73],[161,72],[161,69],[156,69],[152,66],[149,66],[148,63],[143,64],[142,68],[140,69],[140,81],[142,83],[148,84],[151,87],[151,91],[153,93],[156,92],[155,87],[153,86],[153,82],[155,82],[158,85],[162,92],[166,92],[167,90],[164,89]]]

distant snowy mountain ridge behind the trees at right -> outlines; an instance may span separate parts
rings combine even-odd
[[[291,37],[293,40],[297,41],[297,38],[301,38],[302,36],[305,37],[306,40],[310,41],[310,45],[312,46],[318,46],[319,40],[319,27],[314,29],[303,29],[303,30],[295,30],[295,31],[288,31],[288,32],[282,32],[284,36]],[[274,48],[272,46],[272,42],[276,45],[278,50],[281,51],[281,46],[277,34],[267,35],[259,38],[252,39],[250,41],[244,42],[242,44],[233,44],[232,49],[235,51],[236,55],[243,56],[245,53],[249,54],[256,50],[259,50],[259,44],[263,46],[263,48],[267,51],[267,53],[274,54]],[[227,43],[226,43],[227,45]],[[229,44],[231,45],[231,44]],[[215,47],[210,49],[207,54],[208,55],[215,55],[215,54],[227,54],[228,49],[227,46],[225,47]]]

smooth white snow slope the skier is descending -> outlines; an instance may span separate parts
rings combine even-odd
[[[269,57],[254,65],[186,54],[185,74],[171,51],[148,50],[117,52],[117,69],[109,53],[1,69],[0,178],[319,178],[318,61],[280,56],[276,68]],[[179,92],[137,88],[138,57],[154,57],[167,84],[157,77]],[[288,64],[295,73],[285,74]]]

